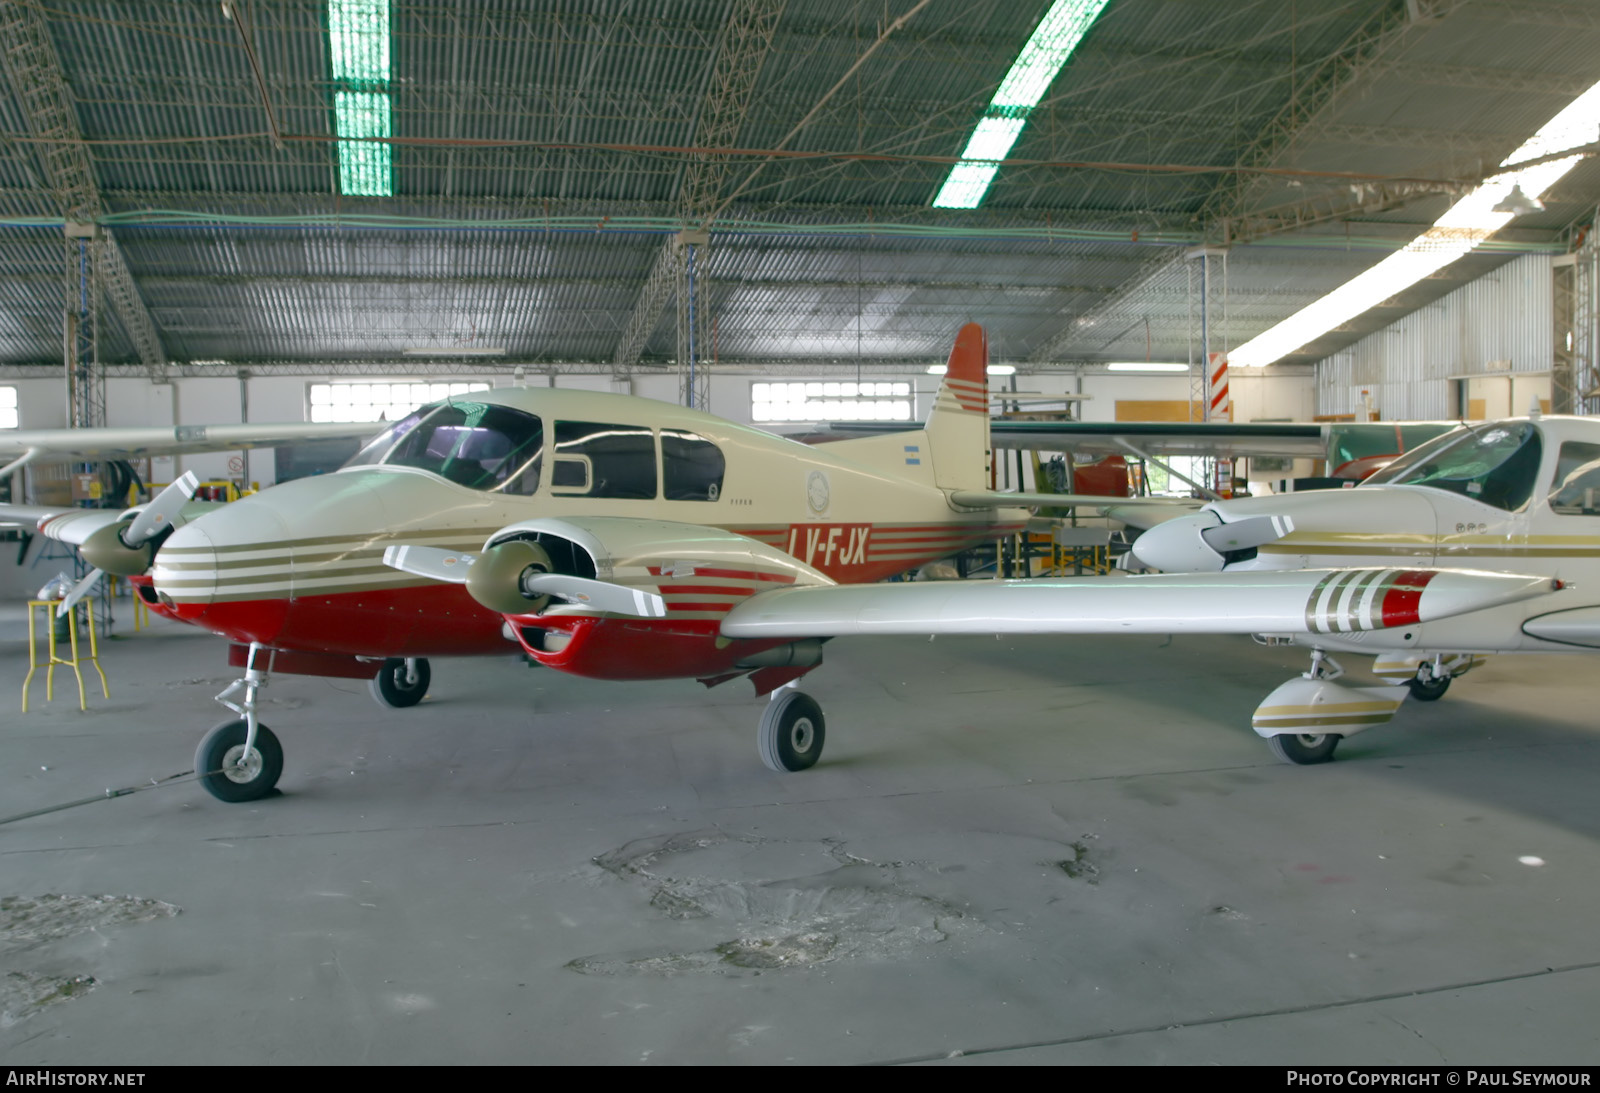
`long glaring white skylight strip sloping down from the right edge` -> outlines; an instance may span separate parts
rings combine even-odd
[[[1597,133],[1600,133],[1600,83],[1573,99],[1565,110],[1506,157],[1501,166],[1525,163],[1544,155],[1560,155],[1570,149],[1592,144]],[[1306,342],[1322,338],[1334,326],[1371,310],[1424,277],[1438,272],[1514,219],[1515,213],[1494,211],[1496,205],[1510,208],[1507,198],[1512,189],[1520,187],[1525,195],[1542,195],[1578,166],[1581,158],[1582,155],[1566,155],[1486,179],[1403,250],[1339,285],[1317,302],[1294,312],[1277,326],[1251,338],[1232,350],[1229,360],[1245,368],[1270,365]]]

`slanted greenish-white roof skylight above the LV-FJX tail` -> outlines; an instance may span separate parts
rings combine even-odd
[[[933,198],[934,208],[978,208],[1000,170],[998,160],[1011,152],[1027,125],[1027,115],[1045,98],[1107,2],[1056,0],[1051,5],[1000,82],[984,118],[966,141],[962,162],[946,176],[939,195]]]

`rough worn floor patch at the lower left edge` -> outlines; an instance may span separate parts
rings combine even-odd
[[[0,1027],[11,1027],[40,1010],[80,999],[98,983],[91,975],[45,975],[18,968],[22,954],[104,927],[171,919],[178,907],[139,896],[0,896],[0,955],[8,965],[0,978]]]

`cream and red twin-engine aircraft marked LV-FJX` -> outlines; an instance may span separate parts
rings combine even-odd
[[[653,400],[499,389],[419,408],[338,474],[187,522],[171,486],[120,517],[42,526],[134,576],[152,610],[230,639],[246,671],[218,699],[238,717],[202,741],[195,770],[232,802],[269,792],[282,771],[256,717],[272,671],[365,677],[390,706],[421,699],[426,658],[507,642],[605,680],[749,677],[771,695],[760,755],[794,771],[824,743],[821,707],[794,683],[835,635],[1368,632],[1552,591],[1542,576],[1411,559],[1243,578],[872,584],[1013,534],[1040,501],[987,488],[986,363],[970,323],[922,430],[822,446]]]

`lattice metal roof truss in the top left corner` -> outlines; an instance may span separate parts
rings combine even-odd
[[[18,0],[0,0],[0,64],[16,104],[27,118],[29,131],[40,141],[35,147],[61,214],[69,221],[94,222],[102,208],[99,187],[61,58],[50,42],[45,21]],[[166,349],[128,270],[128,261],[109,230],[102,232],[96,250],[106,296],[133,339],[139,360],[155,376],[166,365]]]

